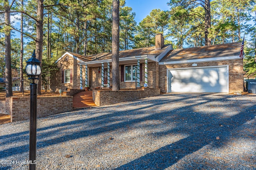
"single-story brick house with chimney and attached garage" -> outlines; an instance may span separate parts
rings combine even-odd
[[[146,85],[161,92],[242,92],[240,47],[228,43],[173,49],[157,34],[154,47],[120,51],[120,88]],[[56,61],[60,70],[51,79],[51,90],[111,87],[111,55],[66,52]]]

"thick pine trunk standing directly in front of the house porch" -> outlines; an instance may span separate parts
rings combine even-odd
[[[120,90],[119,78],[119,0],[113,0],[112,10],[112,90]]]

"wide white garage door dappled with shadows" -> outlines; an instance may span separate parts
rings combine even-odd
[[[168,92],[228,92],[228,66],[168,70]]]

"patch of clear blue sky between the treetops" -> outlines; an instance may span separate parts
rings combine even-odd
[[[126,6],[132,7],[132,12],[136,13],[135,21],[140,23],[154,9],[169,10],[167,2],[170,0],[126,0]]]

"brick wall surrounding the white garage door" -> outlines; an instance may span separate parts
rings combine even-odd
[[[216,62],[205,62],[205,63],[197,63],[196,67],[204,67],[204,66],[221,66],[228,65],[229,72],[229,93],[233,92],[243,92],[243,61],[242,60],[229,60],[229,61],[216,61]],[[170,64],[170,65],[160,65],[159,66],[159,88],[161,92],[166,92],[167,85],[167,69],[168,68],[191,68],[192,63],[188,64]]]

